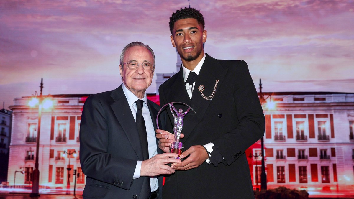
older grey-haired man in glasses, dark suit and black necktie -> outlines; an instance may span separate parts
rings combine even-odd
[[[86,99],[80,126],[80,163],[86,178],[84,198],[161,198],[161,174],[172,174],[155,138],[159,106],[148,100],[155,69],[154,52],[141,42],[120,56],[123,84]]]

